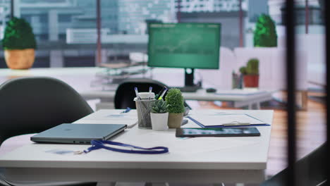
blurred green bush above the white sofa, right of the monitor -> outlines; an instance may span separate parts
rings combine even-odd
[[[270,16],[262,14],[255,25],[253,37],[255,46],[274,47],[277,46],[276,25]]]

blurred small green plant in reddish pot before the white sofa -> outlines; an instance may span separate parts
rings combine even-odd
[[[247,66],[240,68],[243,75],[244,87],[259,87],[259,60],[251,58],[247,61]]]

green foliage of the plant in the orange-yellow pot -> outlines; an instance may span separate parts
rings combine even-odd
[[[2,46],[9,50],[36,49],[37,42],[30,23],[23,18],[11,18],[6,25]]]

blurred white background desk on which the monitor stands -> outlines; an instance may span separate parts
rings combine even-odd
[[[247,106],[247,109],[260,109],[260,103],[273,99],[272,94],[275,91],[264,91],[257,94],[214,94],[207,93],[205,89],[199,89],[197,92],[183,92],[183,98],[187,100],[198,101],[233,101],[233,106],[241,108]],[[85,99],[101,99],[101,103],[97,106],[102,107],[114,106],[114,91],[92,90],[79,92]],[[113,108],[109,108],[113,109]]]

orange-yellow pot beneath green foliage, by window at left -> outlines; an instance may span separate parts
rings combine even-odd
[[[35,49],[5,50],[6,64],[11,69],[28,69],[35,62]]]

